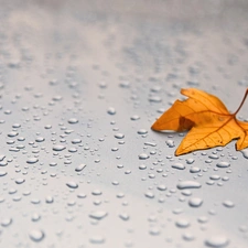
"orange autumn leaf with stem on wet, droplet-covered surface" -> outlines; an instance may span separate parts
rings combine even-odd
[[[196,88],[181,89],[188,97],[176,100],[153,125],[155,131],[190,130],[175,151],[182,155],[195,150],[224,147],[234,139],[236,149],[248,147],[248,122],[236,118],[248,95],[248,89],[238,109],[230,114],[216,97]]]

